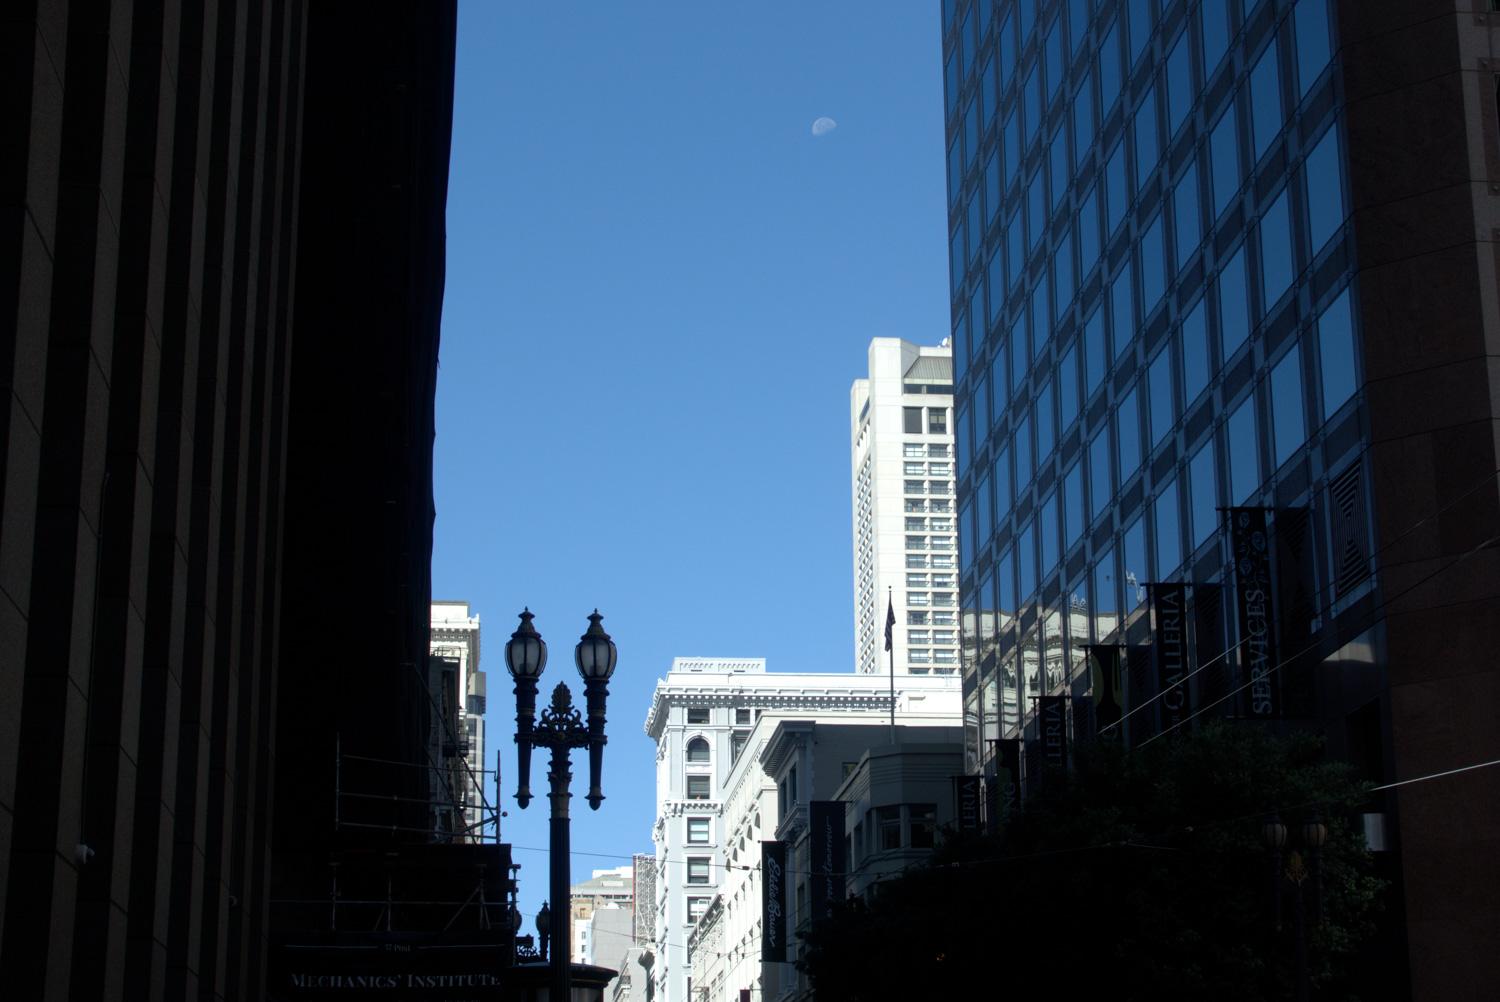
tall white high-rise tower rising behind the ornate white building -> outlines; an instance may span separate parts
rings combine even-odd
[[[855,664],[896,672],[958,668],[958,570],[952,506],[952,360],[946,346],[870,342],[870,376],[849,390]]]

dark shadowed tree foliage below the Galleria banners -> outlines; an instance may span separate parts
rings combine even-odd
[[[1293,898],[1276,932],[1260,826],[1275,806],[1294,832],[1312,804],[1329,836],[1322,928],[1305,885],[1310,978],[1314,998],[1353,998],[1382,882],[1340,816],[1360,788],[1317,736],[1210,724],[1132,752],[1082,746],[1074,765],[999,836],[950,837],[808,933],[800,966],[816,998],[1292,998]]]

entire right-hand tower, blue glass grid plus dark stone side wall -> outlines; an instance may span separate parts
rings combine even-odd
[[[1476,243],[1494,232],[1500,147],[1491,70],[1461,75],[1458,56],[1490,51],[1491,27],[1422,10],[945,0],[970,768],[993,772],[993,738],[1035,747],[1034,696],[1070,696],[1072,726],[1092,726],[1090,644],[1122,651],[1126,738],[1154,735],[1162,582],[1188,586],[1192,718],[1311,722],[1377,783],[1500,758],[1456,681],[1500,690],[1476,654],[1500,642],[1500,609],[1461,576],[1494,568],[1500,524],[1484,362],[1500,303]],[[1436,24],[1443,44],[1420,33]],[[1269,702],[1246,694],[1230,507],[1269,525]],[[1431,657],[1420,612],[1460,606],[1464,639]],[[1464,722],[1461,754],[1432,740],[1436,717]],[[1400,796],[1454,818],[1485,800]],[[1372,831],[1396,800],[1377,798]],[[1484,982],[1443,962],[1452,916],[1434,909],[1464,897],[1466,867],[1500,873],[1452,830],[1404,832],[1383,856],[1419,882],[1404,891],[1419,994]],[[1412,872],[1418,844],[1450,876]],[[1492,940],[1497,921],[1466,910],[1464,936]]]

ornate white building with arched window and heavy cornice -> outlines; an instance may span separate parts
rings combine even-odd
[[[780,822],[764,744],[789,720],[864,723],[870,742],[888,742],[890,684],[884,675],[768,674],[764,658],[674,658],[646,716],[657,742],[656,900],[636,898],[656,912],[656,999],[777,996],[780,966],[760,963],[759,843],[774,840]],[[957,724],[958,712],[957,675],[896,680],[898,729]],[[846,758],[852,768],[860,754]],[[831,796],[843,776],[843,759],[818,760],[806,790]]]

